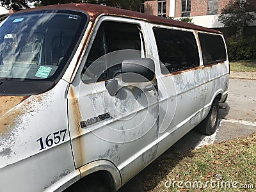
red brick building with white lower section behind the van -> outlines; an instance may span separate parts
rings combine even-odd
[[[234,0],[152,0],[145,1],[145,13],[160,17],[191,17],[194,24],[207,28],[223,28],[218,14]],[[256,0],[246,0],[255,4]],[[255,26],[256,24],[253,23]]]

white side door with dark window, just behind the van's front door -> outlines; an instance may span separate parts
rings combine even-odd
[[[202,120],[207,84],[195,32],[148,25],[159,68],[159,146],[162,154]],[[153,38],[154,36],[154,38]]]

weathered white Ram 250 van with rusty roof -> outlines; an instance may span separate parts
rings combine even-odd
[[[0,191],[117,191],[227,99],[223,35],[93,4],[0,28]]]

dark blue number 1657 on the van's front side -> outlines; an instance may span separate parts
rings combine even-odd
[[[39,150],[46,148],[46,146],[51,147],[53,144],[56,145],[56,144],[60,143],[60,141],[64,141],[66,132],[67,132],[67,129],[63,129],[61,131],[57,131],[57,132],[47,135],[45,140],[43,138],[39,138],[38,140],[36,140],[37,142],[40,143],[41,148]]]

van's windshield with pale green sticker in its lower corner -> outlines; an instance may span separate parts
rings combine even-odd
[[[0,27],[0,79],[54,81],[86,20],[84,13],[62,10],[10,15]]]

